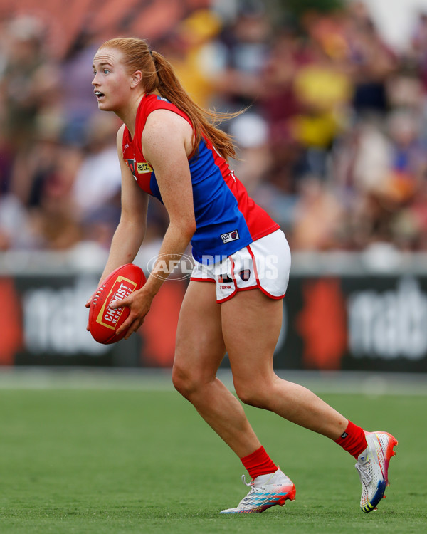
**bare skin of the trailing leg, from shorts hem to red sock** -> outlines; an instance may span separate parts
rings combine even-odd
[[[223,338],[236,393],[246,404],[338,439],[347,428],[347,419],[309,389],[280,379],[273,370],[282,315],[283,301],[256,289],[241,291],[221,304]]]

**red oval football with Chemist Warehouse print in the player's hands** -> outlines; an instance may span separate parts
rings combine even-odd
[[[95,341],[109,345],[125,337],[126,331],[117,335],[117,329],[125,322],[130,308],[123,306],[112,310],[110,303],[128,297],[145,283],[142,268],[127,263],[117,267],[102,281],[93,295],[89,308],[89,328]]]

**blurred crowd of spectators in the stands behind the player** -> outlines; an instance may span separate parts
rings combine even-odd
[[[226,3],[219,2],[221,6]],[[293,250],[427,250],[427,12],[396,51],[367,4],[274,16],[265,2],[196,10],[152,48],[221,127],[251,196]],[[141,36],[144,37],[144,36]],[[97,110],[96,36],[58,59],[33,15],[0,37],[0,251],[109,248],[120,217],[115,115]],[[147,241],[167,216],[149,206]]]

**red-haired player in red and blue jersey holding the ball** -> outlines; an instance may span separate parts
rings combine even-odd
[[[148,198],[157,197],[169,214],[162,261],[142,289],[115,303],[130,308],[118,333],[127,331],[128,338],[142,325],[169,274],[164,266],[191,243],[195,266],[179,315],[172,379],[251,476],[248,495],[222,513],[263,512],[295,498],[294,484],[260,444],[238,399],[323,434],[352,454],[361,507],[371,511],[384,495],[397,441],[386,432],[364,431],[305,387],[275,375],[290,251],[278,224],[228,167],[236,156],[233,142],[214,126],[225,116],[199,108],[167,59],[143,40],[103,43],[93,71],[98,108],[123,122],[117,134],[122,214],[101,279],[134,260]],[[238,399],[216,377],[225,352]]]

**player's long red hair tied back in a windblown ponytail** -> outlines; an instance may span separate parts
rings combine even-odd
[[[197,150],[202,137],[206,137],[222,157],[236,157],[236,147],[231,136],[220,130],[218,125],[224,120],[241,115],[243,111],[222,113],[201,108],[181,85],[167,58],[159,52],[151,51],[142,39],[110,39],[100,48],[120,50],[124,58],[123,63],[130,71],[142,71],[142,83],[146,93],[159,93],[189,117],[194,128],[194,151]]]

